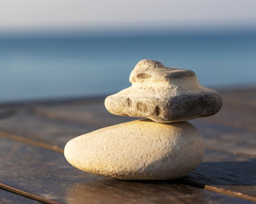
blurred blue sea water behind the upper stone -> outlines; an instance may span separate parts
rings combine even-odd
[[[0,102],[111,94],[140,59],[195,71],[207,87],[256,83],[256,34],[0,37]]]

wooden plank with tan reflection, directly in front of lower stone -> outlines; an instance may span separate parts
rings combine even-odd
[[[84,173],[57,152],[0,138],[0,180],[64,203],[249,203],[179,180],[128,182]]]

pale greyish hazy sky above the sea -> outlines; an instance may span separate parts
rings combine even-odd
[[[5,31],[254,27],[255,0],[1,0]]]

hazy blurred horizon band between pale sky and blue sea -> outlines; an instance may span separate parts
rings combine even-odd
[[[3,30],[0,37],[71,37],[71,36],[140,36],[140,35],[207,35],[207,34],[246,34],[255,33],[256,26],[197,26],[197,27],[160,27],[157,29],[135,27],[110,29],[29,29],[29,30]]]

